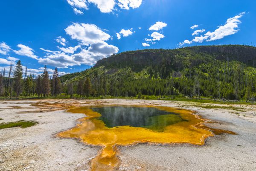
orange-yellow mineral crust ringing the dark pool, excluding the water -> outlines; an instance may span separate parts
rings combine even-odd
[[[159,110],[178,113],[187,122],[168,125],[164,128],[163,132],[131,126],[107,128],[105,123],[99,120],[100,113],[94,112],[91,107],[79,107],[70,109],[68,112],[84,113],[87,117],[79,119],[80,124],[76,128],[58,133],[57,136],[62,138],[77,138],[81,139],[85,144],[102,146],[102,150],[98,156],[91,161],[91,170],[113,171],[121,162],[116,155],[118,153],[116,146],[145,142],[204,145],[204,140],[209,136],[214,136],[214,132],[233,134],[231,131],[215,130],[206,127],[203,123],[207,122],[207,120],[194,115],[194,112],[191,110],[156,106],[133,107],[155,107]]]

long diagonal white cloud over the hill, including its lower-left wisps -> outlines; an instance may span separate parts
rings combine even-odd
[[[240,18],[245,14],[245,12],[239,13],[235,17],[228,18],[224,26],[219,26],[218,29],[215,29],[213,32],[207,32],[204,35],[196,36],[192,41],[185,40],[183,43],[179,43],[179,46],[184,44],[191,44],[193,42],[202,43],[204,41],[215,41],[222,39],[229,35],[234,35],[239,31],[239,24],[241,23]],[[197,25],[195,25],[197,26]],[[192,26],[191,29],[194,29],[195,26]],[[205,32],[205,29],[196,30],[192,35],[199,35],[199,33]]]

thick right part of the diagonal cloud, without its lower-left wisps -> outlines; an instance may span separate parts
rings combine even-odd
[[[245,12],[236,15],[235,17],[227,19],[224,26],[219,26],[214,32],[207,32],[205,35],[209,36],[207,41],[215,41],[224,38],[228,35],[233,35],[239,31],[238,25],[241,23],[241,18]]]

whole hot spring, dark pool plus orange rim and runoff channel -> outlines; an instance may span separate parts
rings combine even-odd
[[[58,137],[77,138],[88,145],[102,146],[91,160],[92,171],[113,171],[120,164],[118,146],[138,143],[189,143],[204,145],[218,133],[232,133],[204,125],[207,120],[191,110],[158,106],[89,106],[68,110],[84,113],[79,124],[58,133]]]

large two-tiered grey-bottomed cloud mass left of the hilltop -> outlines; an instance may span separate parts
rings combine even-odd
[[[100,59],[119,52],[116,46],[105,42],[111,36],[96,25],[73,23],[65,31],[72,39],[79,41],[80,45],[67,48],[57,46],[59,51],[41,48],[46,55],[39,58],[38,62],[40,64],[58,68],[68,68],[81,64],[93,65]],[[80,51],[76,52],[78,49]]]

